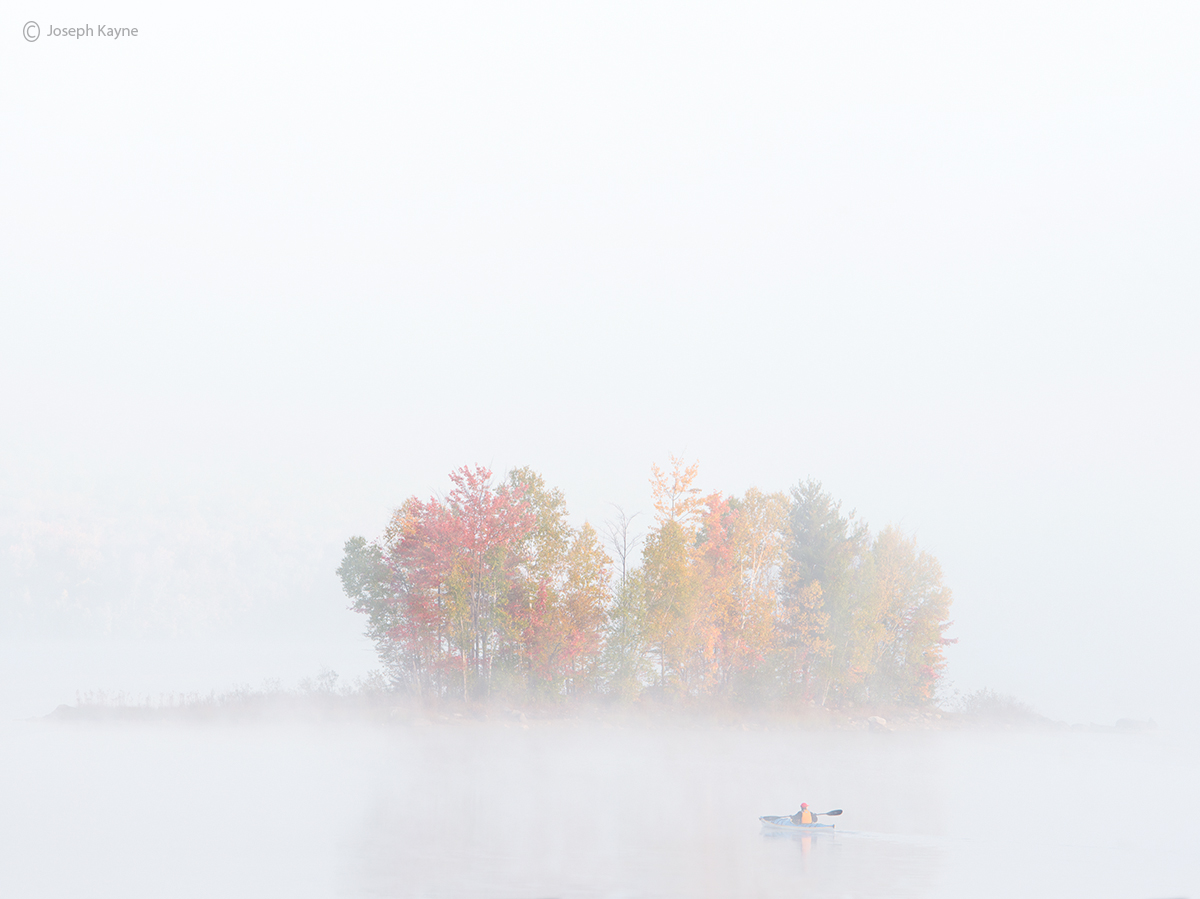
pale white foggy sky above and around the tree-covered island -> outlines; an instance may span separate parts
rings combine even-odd
[[[1195,6],[67,2],[0,46],[11,652],[316,670],[406,496],[530,465],[600,523],[677,453],[914,533],[964,691],[1200,702]]]

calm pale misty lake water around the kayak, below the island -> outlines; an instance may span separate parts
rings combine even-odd
[[[1170,735],[584,721],[0,730],[5,897],[1195,894]],[[845,808],[832,838],[761,814]]]

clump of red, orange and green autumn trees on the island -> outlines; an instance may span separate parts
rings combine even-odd
[[[932,699],[952,642],[937,559],[816,481],[738,497],[696,475],[652,467],[648,533],[618,511],[602,539],[529,468],[463,467],[379,540],[348,540],[337,573],[388,675],[425,699]]]

